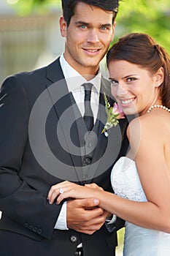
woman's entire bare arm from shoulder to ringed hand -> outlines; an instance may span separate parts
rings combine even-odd
[[[140,140],[139,132],[136,132],[137,122],[132,121],[130,126],[133,134],[130,140],[131,150],[135,153],[136,167],[148,202],[135,202],[100,189],[82,187],[64,181],[50,189],[51,203],[58,195],[58,203],[66,197],[92,197],[100,201],[101,208],[128,222],[170,233],[170,173],[166,167],[163,151],[164,135],[160,136],[160,129],[163,128],[161,124],[159,127],[158,120],[157,127],[155,126],[154,118],[150,123],[151,127],[148,121],[140,120]],[[62,194],[60,194],[61,187]]]

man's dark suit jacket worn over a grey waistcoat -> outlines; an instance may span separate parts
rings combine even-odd
[[[104,78],[101,89],[109,95]],[[82,139],[85,124],[69,94],[58,59],[47,67],[12,75],[4,81],[0,93],[1,230],[37,241],[53,238],[61,205],[50,205],[47,194],[53,184],[64,179],[78,184],[96,182],[112,191],[112,165],[128,146],[125,140],[122,144],[126,122],[121,120],[120,126],[110,129],[108,138],[101,135],[106,121],[102,94],[100,105],[100,120],[95,127],[97,145],[92,152],[86,152]],[[87,158],[91,165],[87,165]],[[105,227],[92,236],[74,230],[55,230],[55,234],[65,241],[63,255],[74,255],[81,241],[88,256],[104,252],[109,255],[108,248],[117,244],[116,233],[109,233]],[[74,243],[72,235],[77,238]],[[55,243],[60,249],[60,239]]]

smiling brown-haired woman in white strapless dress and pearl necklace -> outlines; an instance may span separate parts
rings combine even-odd
[[[128,154],[112,169],[115,194],[63,181],[48,198],[93,197],[125,219],[124,256],[169,256],[170,58],[150,36],[134,33],[112,46],[107,67],[117,103],[127,116],[139,115],[128,125]]]

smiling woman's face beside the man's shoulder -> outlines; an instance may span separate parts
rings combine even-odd
[[[128,61],[111,61],[109,79],[112,95],[126,115],[146,113],[158,99],[158,77]]]

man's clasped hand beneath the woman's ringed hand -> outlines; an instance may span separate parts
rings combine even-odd
[[[104,225],[107,211],[98,207],[93,198],[68,200],[66,203],[67,227],[92,235]]]

